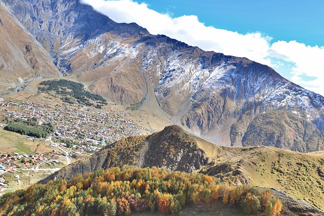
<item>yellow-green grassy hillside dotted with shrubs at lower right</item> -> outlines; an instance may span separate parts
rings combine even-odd
[[[323,154],[274,147],[228,148],[201,145],[213,161],[201,172],[223,182],[275,188],[324,210]]]

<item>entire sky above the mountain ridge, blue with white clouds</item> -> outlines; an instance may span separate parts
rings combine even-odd
[[[116,22],[269,65],[324,96],[324,1],[82,1]]]

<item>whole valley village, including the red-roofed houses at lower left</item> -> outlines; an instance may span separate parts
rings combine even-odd
[[[95,153],[124,137],[155,132],[138,126],[127,112],[116,108],[104,111],[86,106],[41,105],[0,99],[0,116],[2,127],[15,118],[24,121],[36,118],[38,125],[52,122],[54,133],[42,140],[56,149],[45,154],[0,152],[0,195],[3,191],[12,190],[12,182],[19,186],[23,174],[24,177],[27,175],[26,171],[56,171],[76,160],[77,155]],[[30,142],[41,140],[34,137],[25,139]]]

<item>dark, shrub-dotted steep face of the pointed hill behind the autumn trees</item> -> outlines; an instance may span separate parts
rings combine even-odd
[[[121,139],[86,160],[62,168],[41,182],[51,179],[69,180],[76,174],[122,165],[157,166],[193,172],[209,163],[209,157],[198,147],[197,141],[200,139],[186,134],[180,126],[168,126],[150,136]]]

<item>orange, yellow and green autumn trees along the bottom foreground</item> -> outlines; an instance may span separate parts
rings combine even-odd
[[[219,184],[202,174],[164,168],[109,168],[50,181],[0,199],[1,215],[124,215],[155,211],[176,214],[185,204],[240,206],[247,213],[277,215],[281,202],[270,190]]]

